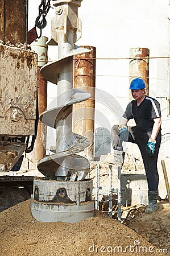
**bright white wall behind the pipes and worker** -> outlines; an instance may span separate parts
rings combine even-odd
[[[106,113],[110,127],[117,122],[128,103],[129,60],[116,59],[128,58],[130,48],[142,47],[149,48],[150,57],[154,57],[150,59],[150,96],[157,98],[161,104],[162,133],[170,132],[166,101],[169,96],[169,59],[160,58],[169,56],[168,3],[168,0],[84,0],[78,8],[82,37],[76,44],[96,47],[97,58],[113,58],[96,60],[96,88],[99,93],[103,90],[107,94],[103,100],[97,100],[96,108]],[[39,4],[40,1],[29,0],[28,28],[34,26]],[[48,37],[53,15],[54,10],[51,9],[47,15],[48,26],[43,30],[43,35]],[[48,56],[49,59],[56,59],[57,48],[50,46]],[[53,98],[53,90],[53,85],[48,86],[49,101]],[[117,108],[119,112],[115,118]],[[169,140],[162,144],[160,155],[170,157],[168,143]]]

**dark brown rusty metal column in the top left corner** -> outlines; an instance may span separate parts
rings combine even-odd
[[[0,0],[0,6],[0,39],[4,44],[24,44],[25,0]]]

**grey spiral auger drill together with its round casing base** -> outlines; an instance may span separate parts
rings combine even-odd
[[[44,179],[34,179],[31,212],[40,221],[76,222],[92,217],[92,180],[85,180],[89,160],[76,155],[90,145],[87,138],[72,132],[72,105],[88,100],[90,94],[73,88],[73,56],[89,49],[74,43],[81,37],[78,7],[82,0],[52,0],[56,16],[52,20],[51,40],[58,46],[58,59],[40,70],[42,76],[57,84],[56,108],[40,115],[40,121],[56,129],[52,155],[38,162]],[[43,203],[41,203],[43,201]]]

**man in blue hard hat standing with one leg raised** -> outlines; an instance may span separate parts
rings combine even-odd
[[[127,105],[120,125],[113,126],[111,130],[111,140],[115,150],[114,163],[123,164],[125,158],[123,141],[138,144],[148,183],[148,207],[145,212],[151,213],[159,208],[157,157],[161,142],[160,104],[155,98],[146,96],[145,82],[139,77],[131,81],[129,89],[134,100]],[[127,126],[128,120],[132,118],[136,126]]]

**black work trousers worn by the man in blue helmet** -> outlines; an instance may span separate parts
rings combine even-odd
[[[128,131],[122,131],[119,135],[118,125],[114,125],[111,130],[111,141],[113,143],[113,148],[122,147],[122,141],[128,141],[136,143],[139,147],[140,153],[142,155],[144,169],[146,171],[148,190],[156,191],[159,184],[159,174],[157,172],[157,158],[161,143],[161,132],[159,131],[156,144],[154,156],[150,156],[146,152],[146,146],[148,139],[151,137],[151,131],[139,131],[136,126],[128,126]]]

